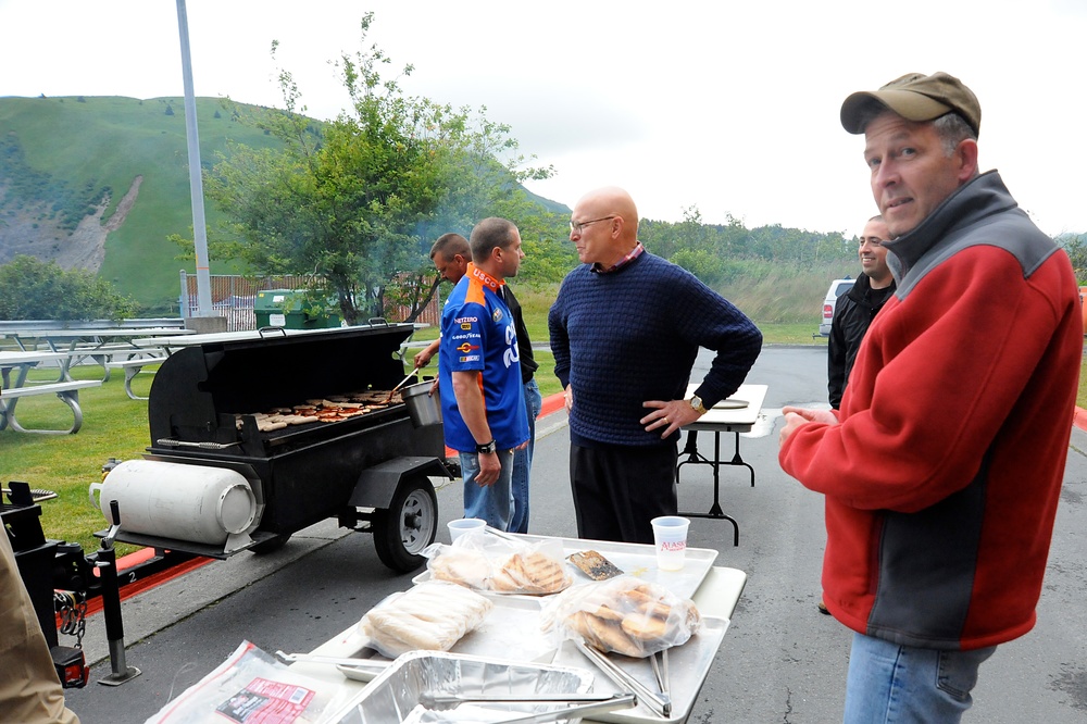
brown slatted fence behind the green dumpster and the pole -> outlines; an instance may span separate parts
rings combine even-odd
[[[253,307],[257,302],[257,292],[265,289],[302,289],[312,283],[309,276],[284,275],[265,277],[246,277],[234,274],[211,275],[211,305],[212,314],[226,317],[226,328],[228,332],[240,332],[243,329],[257,328],[257,314]],[[178,305],[182,316],[196,316],[199,310],[197,299],[197,276],[182,270],[180,272],[180,297]],[[416,323],[437,326],[441,323],[441,303],[438,295],[435,295],[430,303],[423,309],[415,320]],[[389,322],[403,322],[408,319],[411,310],[407,307],[387,303],[385,315]]]

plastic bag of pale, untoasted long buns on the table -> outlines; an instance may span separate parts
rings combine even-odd
[[[492,606],[463,586],[427,582],[378,603],[359,622],[359,631],[371,648],[390,659],[420,649],[448,651]]]

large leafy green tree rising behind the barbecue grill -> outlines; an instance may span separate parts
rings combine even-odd
[[[363,42],[372,20],[362,18]],[[273,57],[276,49],[273,42]],[[235,147],[208,178],[238,239],[218,249],[261,273],[323,278],[349,324],[363,313],[384,316],[387,295],[414,319],[437,288],[426,252],[445,232],[491,215],[534,230],[555,226],[520,188],[551,170],[523,167],[509,126],[488,121],[486,109],[405,96],[382,77],[390,62],[376,46],[342,54],[337,67],[351,107],[320,133],[292,76],[280,71],[284,110],[253,122],[284,148]]]

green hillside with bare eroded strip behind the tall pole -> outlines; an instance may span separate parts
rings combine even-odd
[[[232,117],[220,99],[198,98],[200,158],[212,166],[228,141],[251,147],[276,143],[261,130]],[[172,113],[167,112],[167,109]],[[251,107],[239,107],[241,112]],[[216,117],[216,115],[218,117]],[[179,250],[167,235],[192,237],[185,103],[182,98],[138,100],[118,97],[0,98],[0,259],[16,244],[21,215],[34,215],[41,239],[21,239],[24,248],[48,259],[74,244],[65,211],[87,211],[109,192],[102,216],[107,224],[134,179],[142,177],[138,197],[124,223],[107,236],[99,275],[134,296],[150,311],[167,312],[178,294],[178,270],[195,272],[191,261],[178,261]],[[33,184],[27,184],[27,178]],[[35,196],[37,200],[35,203]],[[220,220],[207,205],[208,224]],[[60,225],[61,228],[57,228]],[[32,232],[33,234],[33,232]],[[212,264],[212,273],[236,271]]]

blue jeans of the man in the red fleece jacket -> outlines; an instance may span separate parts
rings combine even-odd
[[[937,651],[853,634],[846,724],[954,723],[970,709],[977,669],[997,647]]]

